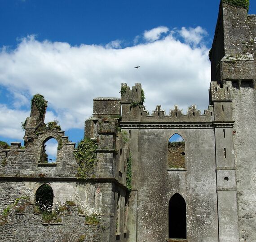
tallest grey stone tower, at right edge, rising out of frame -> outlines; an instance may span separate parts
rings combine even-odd
[[[256,137],[256,15],[247,14],[248,1],[237,2],[239,5],[234,4],[234,1],[222,0],[220,4],[215,37],[209,53],[212,65],[211,86],[223,90],[231,89],[228,99],[223,96],[218,102],[214,102],[214,112],[217,116],[221,113],[218,110],[219,106],[230,106],[230,114],[234,120],[231,135],[234,142],[239,239],[254,241],[256,238],[256,231],[253,229],[253,225],[256,224],[254,195],[256,163],[253,159],[256,156],[254,138]],[[214,99],[213,94],[212,98]],[[221,139],[216,135],[216,140],[220,142]],[[222,168],[223,172],[225,169]],[[220,171],[217,170],[218,172]]]

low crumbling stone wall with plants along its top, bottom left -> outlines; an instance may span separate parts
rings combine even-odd
[[[0,226],[2,242],[55,242],[69,235],[84,241],[101,242],[102,225],[85,224],[84,216],[79,216],[78,208],[71,208],[71,213],[62,215],[58,224],[45,223],[42,215],[34,213],[34,206],[28,205],[24,214],[9,215],[8,222]]]

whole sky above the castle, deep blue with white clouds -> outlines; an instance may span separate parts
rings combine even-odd
[[[22,141],[36,94],[73,142],[93,98],[141,82],[146,109],[207,109],[219,0],[0,0],[0,140]],[[256,13],[251,0],[249,13]],[[141,65],[140,69],[134,69]]]

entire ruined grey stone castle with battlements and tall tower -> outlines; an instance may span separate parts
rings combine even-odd
[[[120,99],[93,100],[77,148],[44,124],[37,95],[25,148],[0,147],[0,241],[256,241],[255,49],[256,15],[221,1],[208,109],[150,115],[141,84],[123,83]],[[173,134],[185,142],[181,166],[168,163]],[[53,163],[42,160],[51,138]]]

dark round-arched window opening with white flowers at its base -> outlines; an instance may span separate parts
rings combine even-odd
[[[40,186],[35,193],[35,204],[43,212],[51,212],[53,208],[53,189],[48,184]]]

